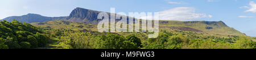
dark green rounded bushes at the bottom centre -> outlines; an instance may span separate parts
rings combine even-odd
[[[141,40],[134,35],[125,37],[117,34],[101,35],[97,40],[99,49],[138,49],[141,47]]]

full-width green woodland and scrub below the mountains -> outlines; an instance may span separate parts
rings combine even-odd
[[[34,26],[33,26],[34,25]],[[1,49],[254,49],[255,38],[246,35],[160,29],[158,38],[148,33],[100,33],[84,22],[48,21],[20,23],[1,21]],[[222,37],[221,37],[222,36]]]

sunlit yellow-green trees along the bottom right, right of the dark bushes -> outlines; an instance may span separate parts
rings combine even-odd
[[[246,36],[185,36],[160,33],[158,38],[144,43],[147,49],[255,49],[256,42]]]

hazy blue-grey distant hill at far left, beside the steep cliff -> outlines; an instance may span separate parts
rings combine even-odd
[[[67,17],[46,17],[46,16],[34,14],[34,13],[28,13],[27,15],[23,15],[23,16],[6,17],[5,19],[2,19],[2,20],[6,20],[6,21],[18,20],[20,22],[31,23],[31,22],[44,22],[44,21],[50,21],[50,20],[63,20],[65,18]]]

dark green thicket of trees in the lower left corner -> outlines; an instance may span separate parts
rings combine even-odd
[[[0,21],[0,49],[29,49],[46,47],[48,38],[42,30],[17,20]]]

